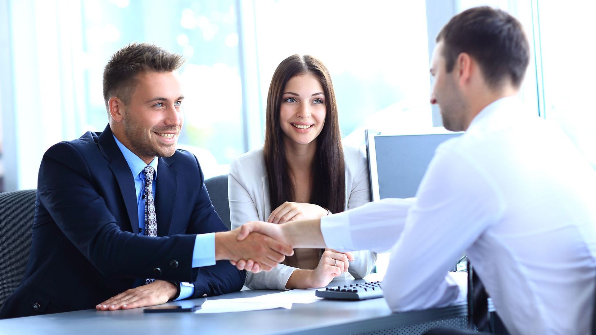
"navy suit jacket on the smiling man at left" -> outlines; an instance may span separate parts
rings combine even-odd
[[[240,290],[246,272],[228,261],[191,267],[194,234],[226,230],[197,159],[176,150],[159,161],[158,236],[148,237],[136,234],[134,179],[109,125],[49,148],[39,168],[27,272],[0,318],[95,308],[131,289],[135,278],[194,283],[193,297]]]

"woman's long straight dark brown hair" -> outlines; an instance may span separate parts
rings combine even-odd
[[[269,85],[263,149],[269,181],[269,203],[271,210],[274,210],[285,201],[296,200],[294,188],[287,187],[293,183],[285,157],[284,136],[280,126],[280,106],[288,80],[305,73],[315,76],[321,83],[327,108],[325,124],[321,134],[316,138],[309,203],[326,207],[333,213],[343,212],[346,203],[346,178],[335,92],[327,67],[310,55],[291,55],[285,58],[275,70]],[[288,257],[287,263],[296,266],[296,256]]]

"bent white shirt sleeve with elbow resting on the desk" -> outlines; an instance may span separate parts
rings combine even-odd
[[[467,289],[454,277],[461,274],[448,269],[505,210],[497,185],[482,166],[445,147],[437,149],[417,198],[383,280],[393,311],[464,300]]]

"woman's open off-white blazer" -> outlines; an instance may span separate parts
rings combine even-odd
[[[368,165],[364,151],[344,145],[346,174],[346,206],[351,209],[370,201]],[[232,229],[248,221],[266,221],[271,215],[269,182],[263,149],[249,151],[232,160],[229,166],[228,197]],[[367,275],[377,260],[377,254],[368,250],[353,253],[348,272],[355,278]],[[269,272],[248,272],[244,283],[250,289],[285,290],[285,284],[297,268],[284,264]],[[342,274],[341,277],[344,277]]]

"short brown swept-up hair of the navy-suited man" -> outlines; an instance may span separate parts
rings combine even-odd
[[[154,44],[131,43],[116,51],[104,69],[104,101],[120,98],[128,104],[135,89],[135,77],[140,72],[172,72],[184,64],[184,58]]]

